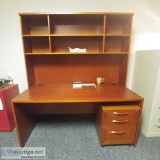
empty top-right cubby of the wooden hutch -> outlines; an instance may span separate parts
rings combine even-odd
[[[131,15],[107,15],[105,34],[125,35],[131,33]]]

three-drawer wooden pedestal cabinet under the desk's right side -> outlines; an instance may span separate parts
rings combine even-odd
[[[97,115],[97,131],[101,145],[136,145],[141,103],[103,106]]]

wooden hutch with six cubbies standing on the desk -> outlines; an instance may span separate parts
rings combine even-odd
[[[125,85],[132,13],[19,15],[29,86],[57,82],[58,72],[69,73],[71,77],[65,77],[68,82],[95,81],[101,75],[108,83]],[[86,52],[70,53],[69,48],[86,49]],[[45,77],[43,81],[37,78],[41,74]]]

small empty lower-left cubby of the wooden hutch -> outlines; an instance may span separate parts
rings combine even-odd
[[[23,37],[25,53],[48,53],[50,52],[49,37],[35,36]]]

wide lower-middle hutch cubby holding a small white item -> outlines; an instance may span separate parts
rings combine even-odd
[[[51,37],[51,52],[70,53],[69,48],[86,49],[86,53],[103,51],[103,37],[101,36],[53,36]],[[85,54],[85,53],[84,53]]]

